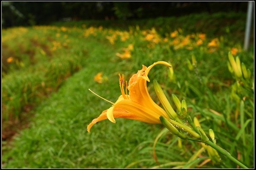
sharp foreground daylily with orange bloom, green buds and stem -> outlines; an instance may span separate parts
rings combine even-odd
[[[93,119],[93,121],[87,126],[87,131],[90,132],[90,129],[94,124],[105,119],[109,119],[111,122],[116,123],[115,118],[134,119],[151,124],[163,124],[169,131],[181,139],[207,144],[209,147],[211,147],[208,149],[211,159],[212,156],[218,156],[218,151],[240,167],[247,168],[244,164],[231,156],[230,153],[216,144],[214,139],[214,132],[212,129],[209,129],[209,134],[212,139],[211,142],[200,125],[192,122],[191,117],[187,113],[185,100],[180,102],[177,96],[172,94],[172,99],[178,110],[178,114],[176,114],[157,81],[154,81],[154,88],[157,97],[160,99],[160,102],[165,110],[163,110],[163,108],[158,106],[151,99],[147,89],[147,82],[150,81],[148,78],[148,73],[151,68],[157,64],[163,64],[171,67],[168,62],[164,61],[154,62],[149,67],[143,65],[142,69],[131,77],[129,83],[125,81],[124,75],[121,76],[119,74],[121,95],[115,103],[105,99],[113,105],[107,110],[103,111],[98,118]],[[129,94],[127,93],[127,89]],[[179,117],[182,118],[184,122],[186,121],[188,124],[190,124],[191,127],[186,125],[186,123],[184,124],[184,122],[182,122],[177,117],[177,115],[179,115]]]

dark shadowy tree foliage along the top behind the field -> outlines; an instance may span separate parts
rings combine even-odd
[[[247,2],[2,1],[2,27],[45,25],[61,20],[131,20],[246,10]]]

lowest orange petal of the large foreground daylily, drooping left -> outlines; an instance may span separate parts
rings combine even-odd
[[[108,119],[107,117],[107,110],[103,111],[101,113],[101,115],[99,115],[99,117],[97,117],[96,119],[93,119],[93,121],[87,125],[87,131],[90,132],[91,127],[96,124],[97,122],[100,122],[102,120]],[[138,120],[140,122],[146,122],[145,119],[138,117],[137,115],[133,114],[133,113],[129,113],[127,111],[125,111],[125,109],[121,109],[121,108],[114,108],[113,109],[113,117],[115,118],[124,118],[124,119],[133,119],[133,120]]]

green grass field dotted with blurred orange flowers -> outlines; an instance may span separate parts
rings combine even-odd
[[[243,51],[245,20],[246,14],[219,13],[2,30],[2,167],[236,168],[163,125],[105,120],[87,132],[111,107],[89,88],[115,102],[119,73],[129,80],[142,65],[166,61],[173,74],[163,65],[149,74],[152,99],[160,105],[156,79],[173,107],[172,94],[186,99],[188,113],[207,135],[214,130],[218,145],[253,168],[254,44]],[[230,73],[229,51],[251,72],[249,78]]]

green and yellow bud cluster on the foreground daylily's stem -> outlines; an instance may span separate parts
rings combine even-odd
[[[212,147],[206,145],[209,142],[209,138],[201,128],[198,119],[194,117],[194,121],[192,121],[188,114],[186,101],[182,100],[180,102],[178,97],[175,96],[175,94],[172,94],[172,100],[177,108],[176,113],[156,80],[154,80],[154,89],[158,99],[163,105],[164,110],[169,116],[169,119],[160,116],[160,121],[162,124],[174,135],[180,137],[181,139],[201,142],[204,149],[207,150],[207,153],[212,161],[214,163],[218,163],[220,161],[218,152]],[[216,144],[215,135],[212,129],[209,129],[209,136],[212,142]]]

